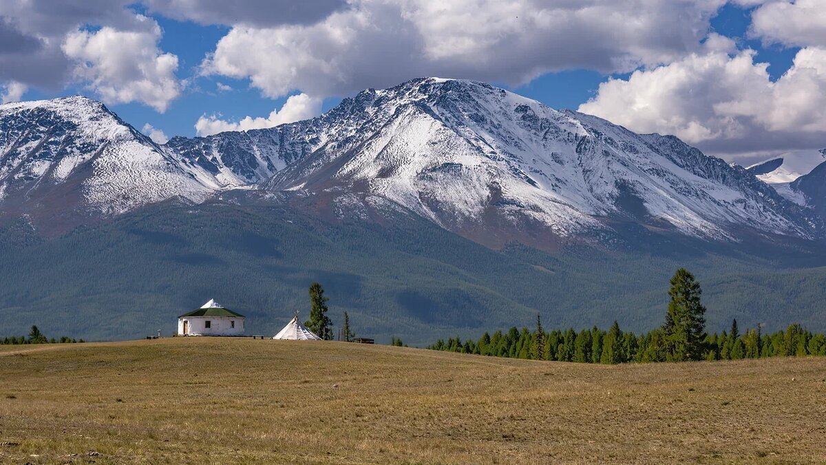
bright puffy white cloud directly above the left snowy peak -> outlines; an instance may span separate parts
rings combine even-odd
[[[175,77],[178,57],[158,48],[160,26],[137,15],[144,27],[119,31],[74,31],[63,43],[74,61],[74,75],[88,83],[106,103],[140,102],[163,113],[180,93]]]

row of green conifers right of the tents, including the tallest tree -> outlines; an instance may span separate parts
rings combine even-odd
[[[681,268],[671,280],[665,323],[648,333],[624,332],[616,321],[607,331],[595,326],[579,332],[573,328],[546,332],[537,315],[533,331],[513,327],[492,336],[484,333],[477,341],[439,339],[428,348],[493,357],[604,364],[826,355],[826,336],[812,333],[800,324],[765,334],[758,325],[740,333],[737,320],[733,320],[728,332],[705,333],[701,294],[700,283]]]

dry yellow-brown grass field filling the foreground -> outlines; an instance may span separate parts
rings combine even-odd
[[[826,357],[606,367],[247,338],[4,346],[0,461],[824,463]]]

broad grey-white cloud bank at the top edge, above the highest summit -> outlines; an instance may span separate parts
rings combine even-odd
[[[268,97],[439,75],[524,84],[572,69],[628,72],[700,49],[724,0],[352,0],[304,25],[235,26],[202,68]]]

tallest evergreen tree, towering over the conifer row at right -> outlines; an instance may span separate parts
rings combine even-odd
[[[666,323],[662,330],[667,339],[667,360],[700,360],[705,352],[705,307],[700,303],[700,283],[694,275],[680,268],[671,279]]]

